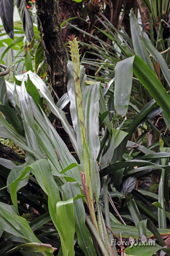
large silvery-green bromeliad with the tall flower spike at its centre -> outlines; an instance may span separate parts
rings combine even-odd
[[[60,99],[56,106],[46,84],[38,75],[29,72],[29,75],[25,73],[16,76],[18,81],[22,80],[21,86],[6,81],[8,99],[15,112],[9,106],[3,106],[4,109],[1,109],[2,112],[5,109],[10,109],[10,111],[6,112],[6,120],[3,116],[0,117],[0,136],[10,138],[13,143],[25,150],[26,155],[25,164],[21,165],[1,159],[2,165],[12,169],[7,178],[7,189],[10,191],[13,203],[13,206],[4,202],[0,203],[0,218],[4,222],[2,232],[4,232],[4,237],[6,232],[16,236],[14,244],[19,239],[17,237],[22,238],[21,243],[27,243],[31,252],[44,252],[42,255],[51,255],[51,252],[55,250],[50,245],[44,244],[40,249],[40,241],[32,231],[32,229],[35,230],[34,224],[30,223],[29,226],[28,222],[19,216],[21,205],[18,204],[17,191],[32,180],[33,183],[38,183],[44,191],[46,200],[48,197],[48,204],[43,203],[43,205],[46,210],[48,206],[49,215],[42,219],[41,224],[38,220],[36,228],[50,219],[53,221],[60,236],[59,254],[74,255],[76,232],[76,240],[85,255],[96,255],[98,251],[107,256],[117,255],[115,248],[111,247],[99,205],[100,177],[96,159],[100,150],[98,136],[100,83],[86,84],[87,77],[84,74],[84,68],[80,67],[78,42],[74,37],[70,39],[72,39],[69,44],[73,64],[68,65],[70,71],[68,94],[64,95],[64,98],[69,96],[70,99],[74,129],[60,109],[63,107],[61,105],[64,98]],[[5,89],[5,84],[2,83],[2,85]],[[46,99],[53,114],[61,119],[80,164],[76,162],[50,123],[44,112],[39,93]],[[5,98],[7,102],[7,95]],[[4,162],[9,165],[7,166]],[[85,213],[83,202],[88,206],[90,218]],[[89,229],[85,225],[85,220]],[[35,243],[35,246],[32,243]],[[26,255],[27,246],[24,244],[22,250],[18,243],[17,246],[5,255],[16,250]]]

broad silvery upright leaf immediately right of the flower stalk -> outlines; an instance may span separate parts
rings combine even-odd
[[[100,150],[99,141],[99,98],[100,83],[87,85],[82,91],[84,121],[87,134],[88,152],[90,156],[90,176],[92,182],[92,191],[95,193],[96,202],[100,194],[100,178],[97,167],[97,156]],[[93,111],[92,111],[93,109]],[[93,127],[93,128],[92,128]]]

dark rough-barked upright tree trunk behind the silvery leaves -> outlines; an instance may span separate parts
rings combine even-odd
[[[61,38],[58,0],[36,0],[38,27],[49,83],[60,98],[66,92],[67,66]]]

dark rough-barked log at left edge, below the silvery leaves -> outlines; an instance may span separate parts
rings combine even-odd
[[[16,162],[22,163],[22,164],[25,162],[24,157],[19,156],[11,148],[2,145],[2,143],[0,143],[0,157],[8,159],[8,160],[16,161]]]

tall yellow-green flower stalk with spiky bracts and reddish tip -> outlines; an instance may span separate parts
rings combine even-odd
[[[71,53],[70,56],[73,63],[77,113],[78,113],[78,121],[80,124],[80,134],[81,134],[82,159],[83,159],[83,167],[84,167],[84,173],[81,173],[81,179],[82,179],[82,185],[84,188],[84,194],[87,199],[90,217],[93,222],[93,225],[98,231],[96,214],[95,214],[94,204],[93,204],[93,193],[92,193],[91,178],[90,178],[90,161],[89,161],[88,144],[86,139],[86,127],[84,122],[82,93],[81,93],[81,85],[80,85],[80,75],[81,75],[80,55],[81,54],[79,54],[79,44],[78,44],[79,41],[77,41],[77,37],[72,35],[72,36],[69,36],[68,43],[69,43],[68,47],[70,48],[70,53]]]

